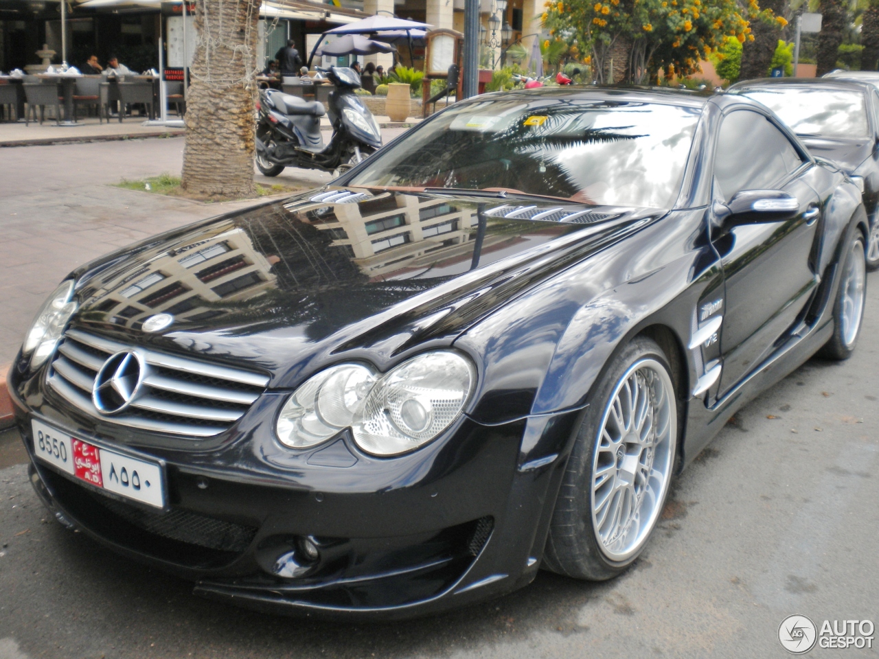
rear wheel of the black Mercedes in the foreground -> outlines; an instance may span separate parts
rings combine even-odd
[[[864,307],[867,301],[867,257],[865,254],[864,236],[857,227],[851,227],[846,234],[843,249],[839,255],[839,286],[833,300],[833,336],[818,352],[820,357],[828,359],[847,359],[854,353],[861,336]],[[859,263],[860,261],[860,263]],[[858,289],[857,279],[861,285]],[[854,284],[854,286],[853,286]],[[860,308],[853,314],[849,311],[853,295],[860,296]],[[854,331],[853,322],[856,322]]]

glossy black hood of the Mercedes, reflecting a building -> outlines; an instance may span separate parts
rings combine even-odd
[[[74,273],[73,325],[294,386],[450,344],[553,272],[665,214],[545,198],[325,189],[224,215]],[[143,322],[171,314],[165,329]],[[149,329],[149,325],[148,325]]]

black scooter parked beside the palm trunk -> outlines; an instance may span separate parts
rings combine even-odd
[[[317,69],[336,88],[330,92],[332,137],[323,143],[323,103],[278,90],[260,90],[257,109],[257,168],[276,177],[285,167],[329,171],[339,175],[381,148],[381,131],[372,112],[354,93],[357,71],[346,67]]]

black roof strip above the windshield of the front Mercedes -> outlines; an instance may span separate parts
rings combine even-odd
[[[566,85],[559,87],[537,87],[532,90],[497,91],[483,94],[468,100],[487,100],[488,98],[580,98],[614,101],[640,101],[642,103],[660,103],[663,105],[680,105],[683,107],[701,108],[711,93],[690,90],[673,90],[663,87],[636,86],[601,86],[596,84]]]

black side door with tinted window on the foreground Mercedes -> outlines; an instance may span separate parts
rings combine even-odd
[[[817,286],[810,256],[821,209],[817,193],[801,180],[814,165],[763,114],[728,113],[715,153],[716,201],[727,202],[742,190],[783,190],[800,203],[791,220],[713,231],[726,281],[723,395],[772,353]]]

